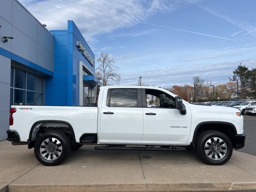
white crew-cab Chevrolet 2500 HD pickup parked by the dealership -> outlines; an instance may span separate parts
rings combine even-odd
[[[189,104],[156,87],[96,90],[96,104],[89,106],[11,106],[7,140],[34,147],[38,161],[47,166],[60,164],[70,150],[85,144],[97,144],[96,150],[195,149],[210,165],[226,163],[233,148],[244,147],[238,109]],[[146,98],[152,97],[159,106],[148,107]]]

